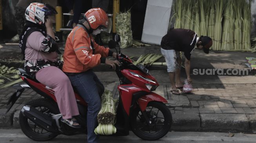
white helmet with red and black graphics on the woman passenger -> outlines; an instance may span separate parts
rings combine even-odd
[[[34,2],[27,7],[25,18],[27,21],[42,25],[45,23],[47,16],[55,14],[57,14],[57,11],[51,5]]]

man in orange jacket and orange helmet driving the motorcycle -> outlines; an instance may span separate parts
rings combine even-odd
[[[64,50],[64,65],[62,70],[71,80],[71,84],[88,104],[87,108],[87,141],[97,141],[94,129],[97,114],[100,110],[100,96],[104,91],[103,84],[92,71],[100,63],[105,63],[115,69],[118,61],[106,59],[107,56],[116,57],[116,53],[99,46],[94,42],[92,35],[101,31],[110,32],[111,21],[107,14],[100,8],[89,9],[79,21],[78,25],[70,32]]]

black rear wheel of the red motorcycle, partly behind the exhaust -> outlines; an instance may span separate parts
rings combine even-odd
[[[51,104],[51,101],[45,98],[32,100],[31,102],[28,102],[25,105],[34,107],[44,114],[48,114],[48,113],[58,114],[58,107]],[[19,122],[20,122],[20,128],[22,132],[28,138],[31,138],[34,141],[48,141],[58,136],[58,134],[48,132],[47,130],[44,130],[38,127],[35,123],[30,121],[27,117],[23,116],[21,111],[19,115]]]

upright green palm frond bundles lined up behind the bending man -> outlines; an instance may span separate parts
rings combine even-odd
[[[252,0],[176,0],[174,28],[194,30],[213,40],[212,50],[253,51]]]

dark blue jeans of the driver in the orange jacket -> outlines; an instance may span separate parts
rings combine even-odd
[[[87,143],[96,143],[97,136],[94,129],[97,126],[97,115],[100,111],[100,94],[103,84],[92,70],[85,71],[77,75],[68,76],[71,84],[78,91],[79,95],[84,98],[88,104],[87,108]]]

